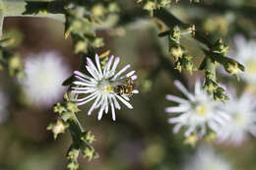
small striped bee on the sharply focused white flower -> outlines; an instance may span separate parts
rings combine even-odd
[[[131,78],[126,78],[125,82],[122,85],[116,85],[114,87],[114,92],[118,95],[126,94],[129,97],[132,96],[132,91],[135,88],[135,84],[133,83]]]

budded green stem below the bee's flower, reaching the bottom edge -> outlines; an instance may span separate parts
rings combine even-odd
[[[80,111],[77,103],[70,98],[74,98],[72,93],[64,95],[64,101],[58,102],[53,111],[58,113],[56,123],[51,123],[47,127],[47,130],[52,131],[54,139],[59,134],[63,134],[66,129],[69,129],[73,143],[71,144],[67,152],[67,168],[69,170],[77,170],[79,168],[78,156],[81,153],[89,160],[96,158],[97,153],[95,148],[91,145],[95,141],[95,136],[91,131],[84,131],[81,129],[80,124],[76,118],[76,113]]]

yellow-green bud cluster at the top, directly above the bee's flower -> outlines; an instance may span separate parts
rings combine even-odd
[[[108,13],[115,13],[119,8],[114,2],[70,2],[65,6],[66,23],[65,38],[72,34],[75,53],[87,53],[89,46],[98,48],[104,45],[103,39],[96,37],[93,27],[96,23],[102,23]]]

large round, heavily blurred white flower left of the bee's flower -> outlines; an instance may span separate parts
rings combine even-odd
[[[70,76],[62,56],[54,51],[31,54],[25,62],[22,82],[28,100],[37,106],[49,106],[63,96],[63,81]]]

